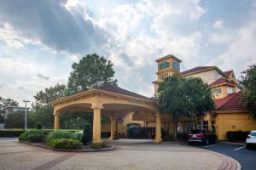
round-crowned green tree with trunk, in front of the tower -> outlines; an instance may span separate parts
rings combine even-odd
[[[211,88],[201,78],[166,77],[159,84],[156,99],[160,113],[172,115],[175,139],[181,116],[204,116],[214,110]]]

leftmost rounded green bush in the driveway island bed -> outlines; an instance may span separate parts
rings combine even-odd
[[[27,142],[42,142],[44,139],[44,132],[42,130],[28,130],[22,133],[19,137],[20,141]]]

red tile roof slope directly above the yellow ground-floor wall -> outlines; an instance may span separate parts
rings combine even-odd
[[[241,92],[229,94],[222,99],[214,99],[217,111],[245,111],[240,105],[240,95]]]

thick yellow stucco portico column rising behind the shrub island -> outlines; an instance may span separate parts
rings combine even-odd
[[[102,143],[101,139],[101,109],[93,109],[93,135],[92,143]]]

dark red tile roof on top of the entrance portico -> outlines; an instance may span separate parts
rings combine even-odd
[[[111,85],[104,85],[104,86],[101,86],[101,87],[96,87],[95,89],[99,89],[99,90],[103,90],[103,91],[107,91],[107,92],[112,92],[112,93],[115,93],[115,94],[128,95],[128,96],[131,96],[131,97],[136,97],[136,98],[141,98],[141,99],[150,99],[150,98],[148,98],[146,96],[143,96],[141,94],[136,94],[136,93],[133,93],[131,91],[125,90],[123,88],[119,88],[119,87],[111,86]]]

